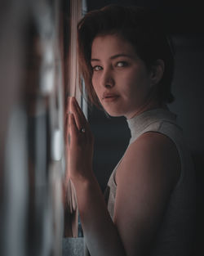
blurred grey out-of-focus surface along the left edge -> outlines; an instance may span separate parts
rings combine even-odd
[[[1,2],[1,256],[58,256],[62,252],[60,3]]]

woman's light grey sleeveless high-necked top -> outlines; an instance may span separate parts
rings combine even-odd
[[[175,143],[180,155],[180,178],[171,192],[149,255],[188,256],[191,254],[195,235],[195,173],[191,156],[184,144],[182,130],[176,124],[176,115],[164,109],[148,110],[127,119],[127,124],[131,130],[129,145],[144,132],[160,132]],[[114,168],[104,191],[112,219],[117,193],[115,175],[118,165]]]

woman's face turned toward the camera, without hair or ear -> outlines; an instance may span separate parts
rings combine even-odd
[[[92,84],[109,115],[133,117],[145,106],[151,72],[131,43],[118,35],[97,36],[91,47]]]

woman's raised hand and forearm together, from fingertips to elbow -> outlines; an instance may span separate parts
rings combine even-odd
[[[104,196],[92,171],[93,137],[74,98],[69,100],[68,173],[75,186],[86,245],[91,255],[124,256],[118,229],[109,216]],[[86,132],[80,132],[84,127]],[[65,184],[67,181],[65,181]]]

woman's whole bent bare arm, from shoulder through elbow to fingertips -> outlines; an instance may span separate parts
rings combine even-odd
[[[69,178],[78,197],[86,245],[92,255],[144,255],[173,186],[179,156],[170,139],[149,132],[132,143],[118,168],[114,220],[91,167],[93,138],[78,106],[70,106]],[[79,129],[85,127],[85,134]]]

